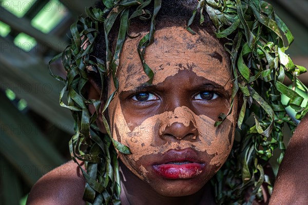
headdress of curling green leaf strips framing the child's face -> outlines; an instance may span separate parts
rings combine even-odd
[[[114,93],[106,99],[103,112],[100,113],[101,101],[88,99],[85,92],[89,72],[100,76],[102,87],[111,75],[115,88],[119,87],[115,77],[123,43],[128,35],[130,22],[136,18],[149,22],[148,33],[138,45],[139,56],[144,72],[151,83],[153,72],[144,61],[146,47],[153,43],[156,16],[161,8],[162,0],[102,0],[103,9],[86,8],[87,17],[79,17],[71,25],[71,45],[63,53],[55,56],[50,64],[58,58],[62,59],[67,72],[66,79],[53,75],[63,81],[64,88],[60,93],[60,105],[71,110],[74,117],[75,135],[69,142],[72,159],[85,161],[86,171],[80,166],[86,179],[84,200],[88,204],[120,204],[120,176],[117,160],[118,151],[130,154],[128,147],[112,139],[104,111],[107,109]],[[306,72],[304,67],[294,65],[285,54],[293,42],[293,35],[282,20],[275,14],[273,7],[260,0],[196,0],[196,9],[187,19],[187,30],[200,15],[199,24],[204,23],[204,15],[208,15],[216,27],[216,36],[225,38],[225,50],[230,54],[231,71],[234,75],[232,102],[237,93],[241,93],[243,105],[240,109],[238,128],[240,139],[235,144],[225,165],[211,180],[216,202],[245,203],[244,195],[251,190],[247,203],[262,199],[260,189],[263,182],[271,183],[264,174],[263,166],[273,155],[274,150],[281,150],[279,163],[284,154],[283,126],[294,130],[295,122],[287,115],[285,108],[291,106],[301,119],[308,111],[301,107],[303,97],[296,89],[307,93],[307,88],[297,79]],[[151,9],[148,9],[151,8]],[[120,22],[118,37],[114,51],[110,48],[110,31],[116,22]],[[99,33],[99,25],[104,26],[104,33]],[[286,42],[283,40],[284,34]],[[93,45],[98,35],[104,36],[106,58],[92,56]],[[283,80],[288,77],[293,82],[293,89],[284,86]],[[104,88],[102,88],[104,90]],[[63,100],[64,96],[66,100]],[[105,93],[106,94],[106,93]],[[282,105],[281,94],[290,100]],[[90,114],[89,105],[96,112]],[[219,126],[229,113],[221,113],[215,126]],[[246,124],[249,116],[255,118],[253,125]],[[102,117],[107,134],[99,131],[95,120]]]

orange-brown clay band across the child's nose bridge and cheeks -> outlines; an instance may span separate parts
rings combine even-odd
[[[192,138],[192,140],[168,141],[162,139],[165,129],[175,123],[186,127],[192,124],[192,129],[197,129],[198,136]],[[207,161],[208,165],[221,167],[232,147],[233,126],[229,119],[225,120],[222,126],[219,127],[214,127],[214,123],[215,121],[206,115],[197,116],[187,107],[178,107],[174,112],[168,111],[149,117],[131,131],[122,114],[121,107],[118,105],[117,118],[113,127],[113,138],[128,146],[132,152],[131,155],[120,155],[121,159],[125,158],[123,161],[130,161],[125,165],[137,176],[146,179],[148,171],[143,169],[139,172],[138,167],[136,167],[137,164],[134,162],[137,162],[143,156],[165,154],[172,149],[184,150],[191,148],[197,150],[208,155],[208,157],[213,156],[210,157],[210,161]],[[160,141],[164,144],[161,145]],[[197,171],[202,172],[201,169]]]

